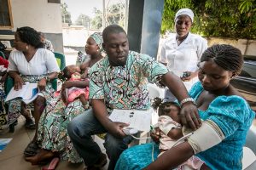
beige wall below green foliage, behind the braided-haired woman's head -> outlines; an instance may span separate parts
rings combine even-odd
[[[213,44],[230,44],[239,48],[241,54],[246,55],[256,55],[256,40],[247,40],[247,39],[234,39],[234,38],[220,38],[220,37],[208,37],[208,46]]]

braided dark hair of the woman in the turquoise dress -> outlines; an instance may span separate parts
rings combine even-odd
[[[226,71],[232,71],[237,75],[241,72],[243,56],[238,48],[227,44],[213,45],[202,54],[201,62],[213,60]]]

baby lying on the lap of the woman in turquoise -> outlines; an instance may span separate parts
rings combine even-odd
[[[178,139],[183,137],[182,124],[180,117],[178,116],[180,107],[175,102],[165,102],[159,105],[159,119],[158,127],[160,128],[160,154],[161,156],[166,150],[171,149],[177,143]],[[179,143],[182,143],[180,141]],[[183,162],[182,165],[177,167],[177,169],[201,169],[204,161],[197,156],[192,156],[188,161]]]

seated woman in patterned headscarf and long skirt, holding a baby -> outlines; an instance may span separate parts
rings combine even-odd
[[[102,59],[100,50],[102,41],[102,35],[98,32],[88,38],[85,50],[90,54],[90,59],[83,65],[91,67],[98,60]],[[82,81],[66,81],[62,84],[61,90],[72,87],[86,88],[88,85],[88,79]],[[80,99],[75,99],[73,102],[68,103],[68,105],[63,102],[61,96],[51,99],[39,122],[38,145],[40,151],[34,156],[26,157],[26,161],[30,161],[32,165],[37,165],[44,163],[54,156],[60,156],[61,160],[64,161],[73,163],[82,162],[83,160],[74,149],[67,134],[67,123],[73,117],[83,113],[85,109],[88,109],[88,107],[84,108]]]

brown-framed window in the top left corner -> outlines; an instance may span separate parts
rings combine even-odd
[[[13,28],[12,11],[10,0],[0,0],[0,28]]]

